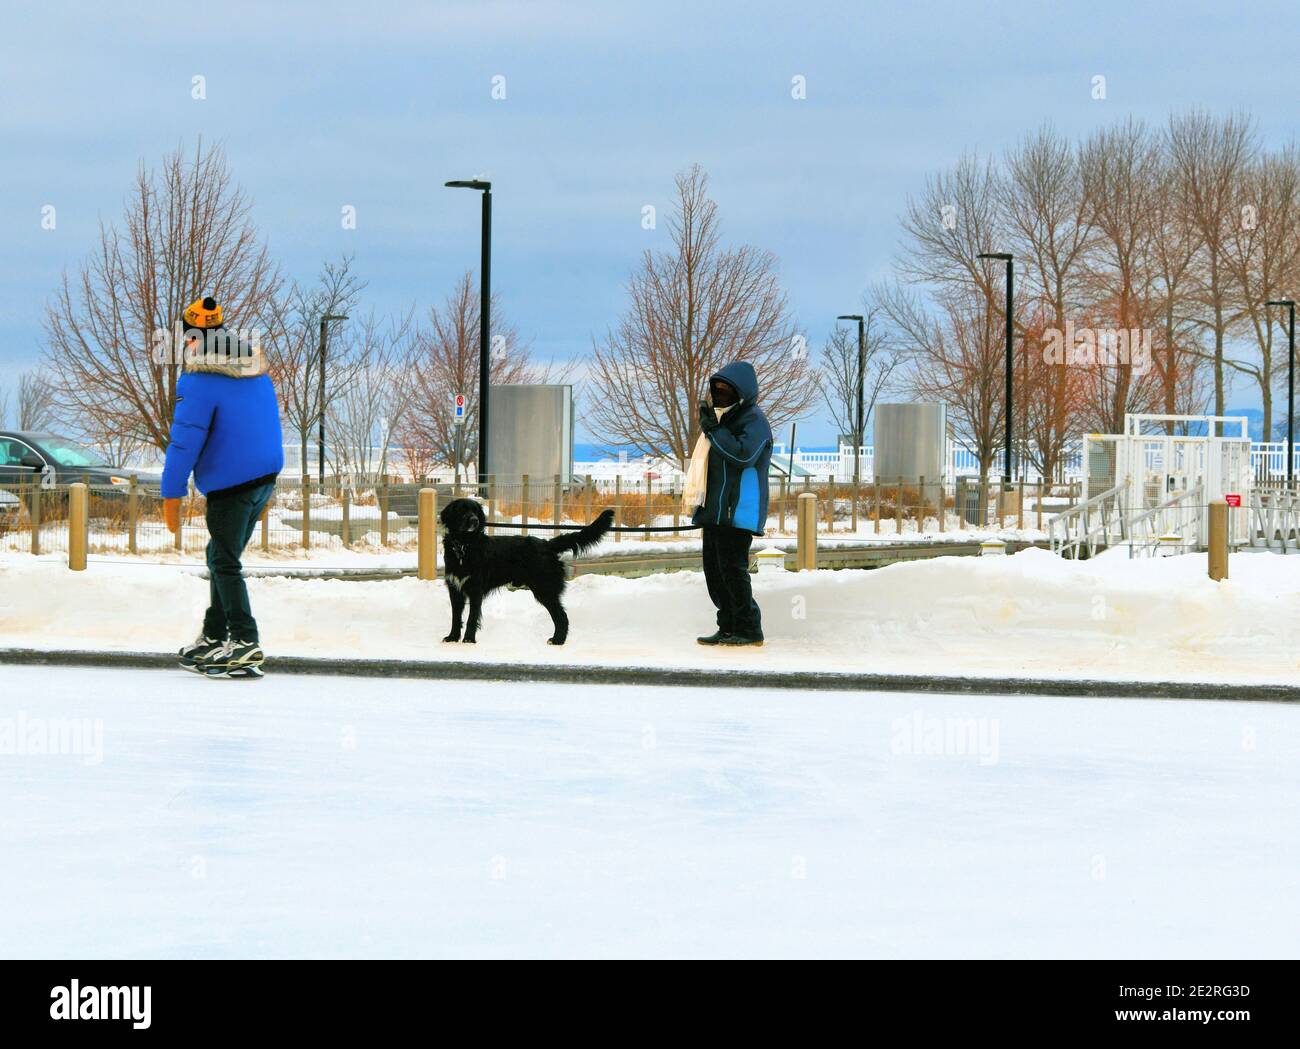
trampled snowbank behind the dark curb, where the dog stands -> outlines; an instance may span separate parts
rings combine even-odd
[[[611,549],[607,543],[602,550]],[[442,582],[252,578],[272,654],[494,662],[1017,675],[1102,680],[1300,681],[1300,558],[1235,554],[1067,562],[1043,550],[935,558],[874,571],[754,577],[767,646],[718,651],[702,575],[580,576],[569,643],[526,591],[485,604],[477,645],[445,645]],[[174,651],[199,628],[207,582],[174,565],[0,558],[0,647]]]

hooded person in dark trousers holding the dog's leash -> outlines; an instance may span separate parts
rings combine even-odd
[[[718,608],[718,630],[699,643],[762,645],[749,547],[767,526],[772,428],[758,407],[758,376],[749,361],[733,361],[712,376],[708,394],[699,404],[699,428],[708,441],[705,497],[692,521],[705,537],[705,582]]]

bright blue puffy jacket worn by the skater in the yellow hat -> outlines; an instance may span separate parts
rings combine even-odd
[[[270,377],[199,364],[176,383],[176,417],[162,467],[162,498],[186,494],[190,473],[204,495],[280,473],[285,445]],[[247,374],[255,370],[255,374]]]

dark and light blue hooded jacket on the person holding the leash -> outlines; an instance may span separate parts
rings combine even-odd
[[[758,376],[745,360],[728,364],[714,380],[736,387],[740,400],[708,434],[708,484],[692,521],[728,525],[762,536],[767,526],[767,464],[772,460],[772,428],[758,407]]]

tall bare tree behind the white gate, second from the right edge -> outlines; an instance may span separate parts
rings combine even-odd
[[[1231,302],[1231,273],[1225,266],[1225,242],[1230,229],[1243,221],[1236,190],[1258,147],[1248,117],[1216,118],[1204,110],[1170,117],[1165,140],[1176,174],[1179,205],[1201,240],[1196,273],[1200,298],[1210,315],[1205,326],[1214,341],[1214,415],[1223,415],[1227,390],[1223,350],[1238,313]]]

